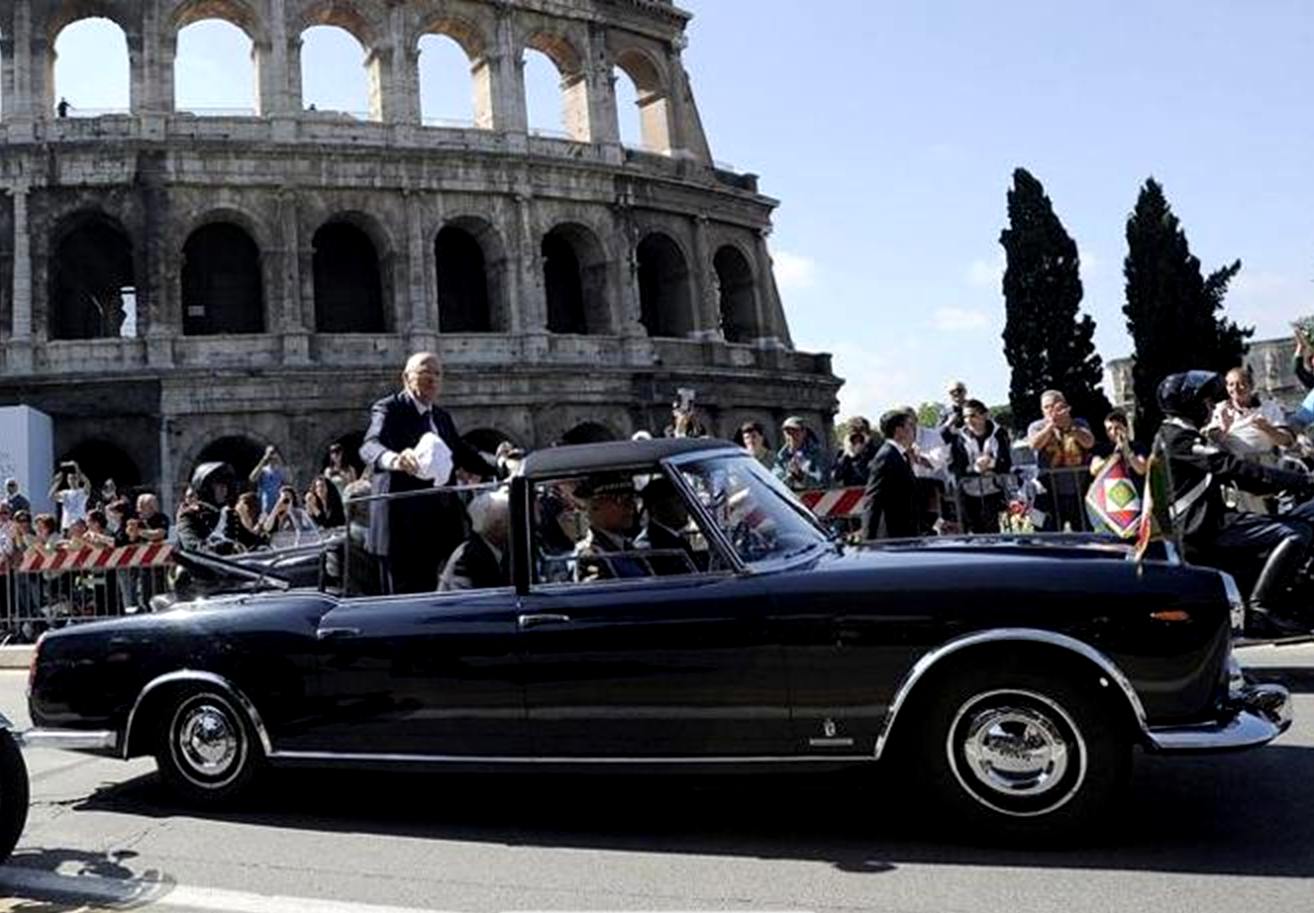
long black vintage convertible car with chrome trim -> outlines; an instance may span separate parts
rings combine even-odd
[[[1000,833],[1084,826],[1135,746],[1290,723],[1231,656],[1235,585],[1171,553],[842,546],[719,441],[543,451],[493,498],[505,577],[482,589],[285,586],[49,633],[25,741],[150,754],[212,803],[267,766],[874,765]]]

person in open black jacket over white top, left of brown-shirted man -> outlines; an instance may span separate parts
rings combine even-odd
[[[963,426],[949,437],[949,470],[958,485],[967,532],[999,532],[1005,479],[1013,469],[1008,432],[991,419],[980,399],[963,402]]]

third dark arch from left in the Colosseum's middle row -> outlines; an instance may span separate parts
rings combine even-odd
[[[311,244],[315,332],[382,332],[384,285],[369,235],[350,222],[330,222]]]

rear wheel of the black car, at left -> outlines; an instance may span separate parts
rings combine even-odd
[[[215,805],[250,788],[263,762],[246,715],[208,688],[177,694],[160,717],[155,762],[183,799]]]

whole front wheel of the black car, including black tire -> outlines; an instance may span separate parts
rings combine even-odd
[[[926,711],[917,759],[932,799],[946,821],[986,838],[1088,832],[1130,774],[1122,721],[1093,682],[970,671],[938,688]]]

